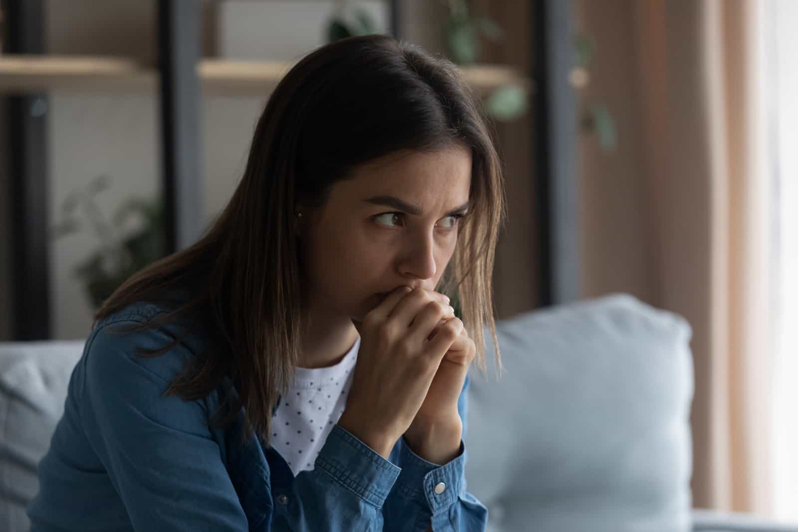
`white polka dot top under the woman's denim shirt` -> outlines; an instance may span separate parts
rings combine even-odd
[[[294,368],[296,377],[272,417],[271,445],[294,476],[313,469],[327,435],[338,423],[358,360],[360,337],[341,362],[326,368]]]

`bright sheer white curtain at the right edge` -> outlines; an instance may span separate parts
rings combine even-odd
[[[798,2],[772,0],[768,26],[768,121],[776,264],[772,442],[776,518],[798,520]]]

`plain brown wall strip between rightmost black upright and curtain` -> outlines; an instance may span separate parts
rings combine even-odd
[[[590,83],[581,93],[581,118],[595,103],[611,109],[617,139],[604,149],[596,135],[579,135],[582,194],[583,295],[625,291],[654,302],[652,234],[638,94],[640,51],[634,0],[575,2],[577,32],[595,43]]]

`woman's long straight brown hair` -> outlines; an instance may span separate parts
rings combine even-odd
[[[437,289],[459,300],[483,372],[488,327],[500,369],[492,270],[504,220],[504,182],[486,124],[468,84],[443,58],[380,35],[322,46],[291,68],[271,94],[243,178],[203,237],[130,277],[95,318],[184,294],[168,312],[132,329],[190,316],[184,334],[201,327],[211,340],[166,394],[195,400],[229,376],[238,398],[223,416],[215,413],[214,421],[230,423],[243,406],[244,434],[255,431],[268,442],[271,414],[294,377],[303,331],[306,294],[295,205],[323,205],[330,187],[361,163],[460,143],[472,152],[472,207]],[[163,354],[179,340],[143,356]]]

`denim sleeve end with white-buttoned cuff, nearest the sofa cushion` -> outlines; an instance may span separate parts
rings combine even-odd
[[[463,440],[468,426],[470,378],[466,376],[457,401],[457,410],[463,421]],[[385,532],[425,532],[430,527],[433,532],[485,530],[488,509],[466,491],[465,463],[468,458],[463,441],[460,441],[459,456],[442,466],[417,456],[405,444],[404,436],[398,446],[401,473],[385,501]]]

